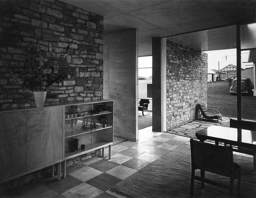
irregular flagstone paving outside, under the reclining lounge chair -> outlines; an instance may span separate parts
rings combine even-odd
[[[167,133],[196,138],[196,136],[195,136],[196,132],[200,131],[202,129],[205,129],[208,126],[217,125],[217,126],[229,127],[229,120],[230,120],[230,118],[222,117],[221,124],[219,124],[218,122],[206,121],[205,119],[194,120],[185,125],[181,125],[177,128],[167,131]]]

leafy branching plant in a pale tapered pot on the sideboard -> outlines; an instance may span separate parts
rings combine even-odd
[[[21,44],[21,43],[20,43]],[[12,77],[15,79],[13,82],[23,84],[31,91],[33,91],[36,107],[43,107],[47,88],[54,83],[60,84],[65,79],[65,71],[59,71],[59,63],[68,54],[69,45],[66,48],[64,54],[60,56],[53,64],[45,65],[44,55],[42,50],[37,46],[37,43],[28,44],[24,46],[23,56],[20,56],[24,60],[24,66],[21,69],[15,71],[8,70]],[[4,65],[3,61],[0,65]]]

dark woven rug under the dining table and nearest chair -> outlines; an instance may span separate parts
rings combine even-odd
[[[241,193],[240,197],[256,197],[256,171],[253,171],[253,159],[234,155],[234,162],[240,164]],[[196,172],[200,175],[200,171]],[[111,191],[127,197],[189,197],[190,194],[191,158],[190,146],[183,144],[155,162],[137,171],[130,177],[116,184]],[[229,178],[205,172],[205,178],[229,184]],[[234,197],[237,180],[234,184]],[[229,197],[229,191],[195,181],[194,197]]]

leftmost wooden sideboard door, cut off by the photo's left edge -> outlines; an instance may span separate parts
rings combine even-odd
[[[0,113],[0,182],[25,172],[26,111]]]

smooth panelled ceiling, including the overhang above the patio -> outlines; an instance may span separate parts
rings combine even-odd
[[[139,56],[152,54],[152,38],[172,35],[169,40],[201,51],[236,48],[234,24],[256,21],[256,0],[60,1],[103,16],[104,34],[137,28]]]

